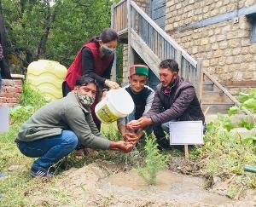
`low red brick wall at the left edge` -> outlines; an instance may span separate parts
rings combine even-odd
[[[19,103],[22,92],[21,79],[3,79],[2,91],[0,94],[0,106],[15,106]]]

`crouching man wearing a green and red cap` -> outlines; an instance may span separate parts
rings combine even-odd
[[[148,66],[133,65],[130,67],[129,85],[125,86],[125,90],[131,95],[131,98],[135,104],[135,109],[126,118],[119,118],[117,124],[120,133],[123,135],[126,141],[137,141],[143,135],[143,129],[150,134],[151,127],[137,129],[135,131],[129,131],[126,129],[126,124],[132,120],[137,120],[148,112],[153,99],[154,90],[146,85],[148,81]]]

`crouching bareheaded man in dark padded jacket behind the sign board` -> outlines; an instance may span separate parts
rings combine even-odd
[[[178,76],[175,60],[163,60],[160,63],[160,84],[157,86],[150,110],[137,122],[127,124],[129,129],[154,125],[154,135],[160,147],[169,147],[165,133],[169,133],[170,121],[198,121],[205,126],[205,117],[195,95],[192,83]],[[205,128],[206,129],[206,128]]]

